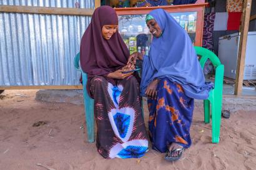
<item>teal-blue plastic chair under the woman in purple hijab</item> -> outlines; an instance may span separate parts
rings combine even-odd
[[[87,83],[87,74],[82,71],[79,66],[80,53],[76,55],[74,58],[74,66],[76,70],[82,73],[82,89],[84,93],[84,111],[86,115],[86,128],[87,128],[87,140],[92,143],[94,142],[94,100],[89,97],[86,90]],[[142,117],[144,118],[144,110],[143,110],[143,101],[141,101],[142,106]]]

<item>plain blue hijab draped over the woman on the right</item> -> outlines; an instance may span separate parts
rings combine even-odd
[[[206,99],[212,83],[205,83],[204,73],[195,54],[189,35],[163,9],[149,13],[162,30],[159,38],[153,37],[149,56],[144,55],[141,95],[155,78],[169,78],[179,83],[190,98]]]

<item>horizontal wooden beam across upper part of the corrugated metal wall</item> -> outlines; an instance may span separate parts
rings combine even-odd
[[[39,7],[39,6],[0,6],[0,12],[92,16],[94,9],[65,8],[65,7]]]

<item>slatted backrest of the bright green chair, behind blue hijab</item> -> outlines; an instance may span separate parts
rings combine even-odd
[[[195,52],[197,53],[197,55],[202,56],[200,59],[200,65],[202,68],[204,68],[207,59],[209,59],[212,62],[214,67],[218,67],[219,65],[221,65],[219,58],[212,51],[205,49],[203,47],[195,46]]]

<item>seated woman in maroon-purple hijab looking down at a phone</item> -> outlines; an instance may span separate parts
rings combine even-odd
[[[96,146],[106,159],[140,158],[148,140],[140,108],[139,83],[126,65],[129,50],[117,31],[112,7],[98,7],[81,40],[81,67],[87,92],[94,98]]]

